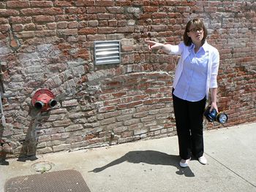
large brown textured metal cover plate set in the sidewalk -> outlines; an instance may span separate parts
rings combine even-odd
[[[7,181],[5,192],[90,192],[80,172],[64,170],[15,177]]]

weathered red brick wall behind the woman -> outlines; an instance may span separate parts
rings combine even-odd
[[[176,134],[178,56],[149,52],[144,40],[178,44],[191,18],[203,18],[221,55],[218,104],[227,126],[254,122],[255,9],[244,0],[0,1],[0,138],[21,157]],[[99,40],[120,40],[121,64],[94,65]],[[55,109],[34,109],[40,88],[56,95]]]

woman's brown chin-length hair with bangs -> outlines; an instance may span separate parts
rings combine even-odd
[[[203,24],[203,20],[200,20],[200,19],[189,20],[189,22],[187,23],[187,26],[186,26],[184,34],[183,34],[184,44],[187,46],[192,44],[192,39],[190,37],[188,37],[188,35],[187,35],[187,32],[189,32],[189,28],[192,24],[194,24],[198,28],[203,28],[203,39],[202,39],[202,45],[203,45],[206,42],[206,37],[208,35],[208,31],[207,31],[206,26]]]

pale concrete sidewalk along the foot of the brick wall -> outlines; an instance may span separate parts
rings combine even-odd
[[[39,155],[35,161],[7,159],[9,165],[0,166],[0,191],[12,177],[38,174],[38,163],[51,164],[50,172],[77,170],[91,192],[256,191],[255,138],[256,123],[205,131],[208,164],[192,158],[187,168],[178,164],[177,137]]]

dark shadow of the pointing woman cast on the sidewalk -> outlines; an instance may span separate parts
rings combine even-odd
[[[176,174],[182,175],[186,177],[195,177],[195,174],[191,171],[189,166],[187,168],[181,168],[179,166],[179,161],[181,158],[178,155],[168,155],[167,153],[162,153],[155,150],[135,150],[130,151],[129,153],[125,154],[121,158],[116,159],[115,161],[110,162],[109,164],[95,168],[91,172],[97,173],[102,172],[103,170],[111,167],[116,166],[118,164],[123,163],[124,161],[128,161],[132,164],[152,164],[152,165],[165,165],[165,166],[175,166],[178,171]]]

